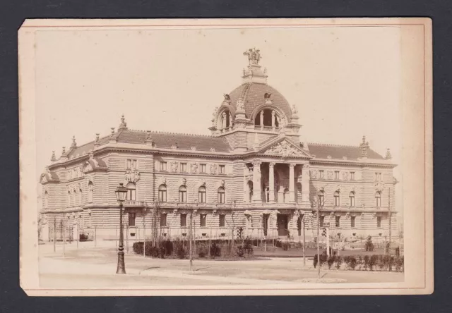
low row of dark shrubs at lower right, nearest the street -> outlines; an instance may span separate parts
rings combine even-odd
[[[314,268],[318,265],[317,254],[314,256]],[[320,254],[320,266],[328,267],[331,269],[340,269],[345,264],[345,269],[358,270],[358,271],[374,271],[379,269],[380,271],[403,271],[403,256],[393,257],[388,254],[372,254],[372,255],[347,255],[341,257],[340,255],[331,255],[328,257],[326,254]]]

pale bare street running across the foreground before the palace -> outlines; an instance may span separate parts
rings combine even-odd
[[[102,245],[102,246],[100,246]],[[243,261],[194,260],[189,271],[187,259],[151,259],[126,253],[126,275],[116,275],[114,242],[40,245],[40,285],[44,288],[112,288],[193,285],[261,285],[300,283],[317,271],[307,259],[270,258]],[[379,271],[321,271],[323,281],[338,283],[381,283],[403,281],[403,273]]]

